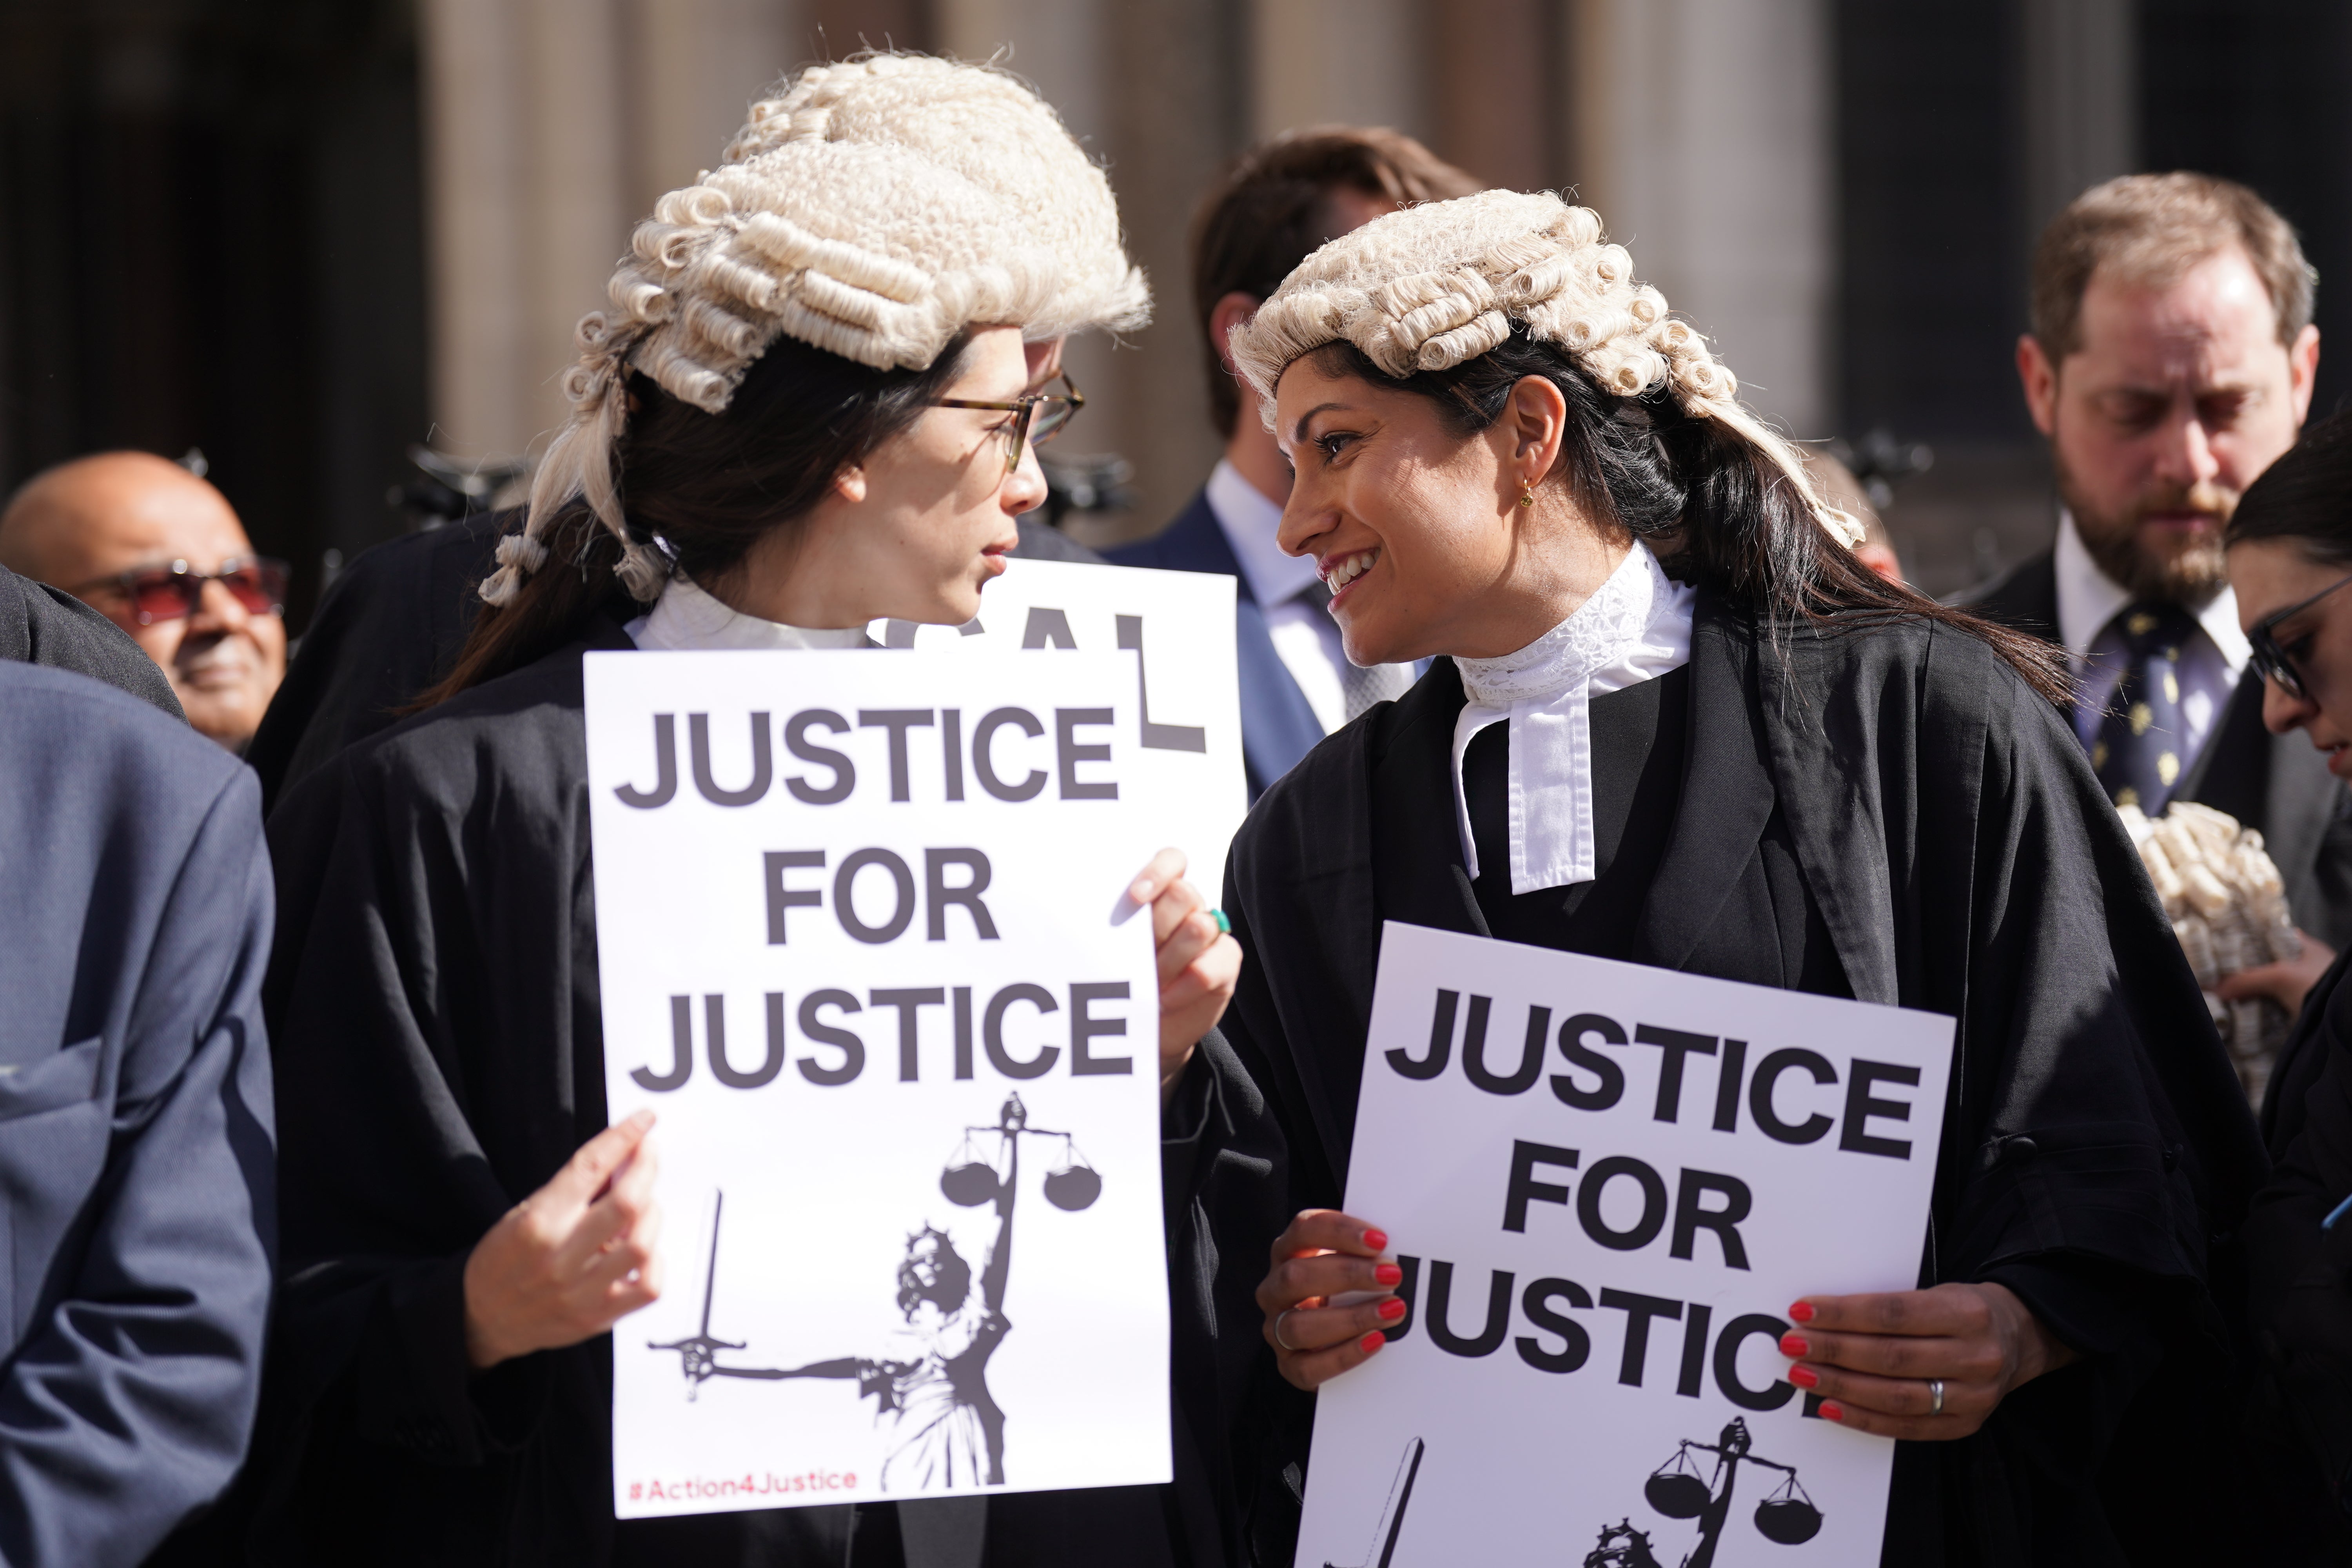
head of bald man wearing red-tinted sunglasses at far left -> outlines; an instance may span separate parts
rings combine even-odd
[[[101,451],[35,475],[0,512],[0,564],[106,614],[202,736],[242,752],[287,670],[285,562],[179,463]]]

